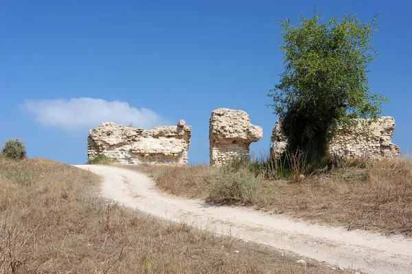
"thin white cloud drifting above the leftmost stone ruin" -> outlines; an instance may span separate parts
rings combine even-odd
[[[126,102],[108,102],[103,99],[25,100],[22,107],[44,126],[72,131],[95,128],[102,122],[124,125],[132,123],[138,128],[168,124],[159,114],[150,109],[136,109]]]

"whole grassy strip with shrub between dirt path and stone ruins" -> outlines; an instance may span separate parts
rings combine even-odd
[[[134,168],[151,174],[159,188],[179,196],[251,205],[347,229],[411,236],[411,159],[334,161],[332,167],[343,168],[306,176],[264,160],[234,163],[221,170],[203,165]],[[295,166],[302,170],[301,165]]]

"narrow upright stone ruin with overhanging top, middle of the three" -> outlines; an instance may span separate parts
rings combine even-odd
[[[260,126],[251,124],[249,115],[233,109],[216,109],[209,121],[210,165],[231,159],[249,159],[249,145],[263,136]]]

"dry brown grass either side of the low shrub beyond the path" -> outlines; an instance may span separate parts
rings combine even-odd
[[[208,196],[216,176],[199,166],[139,169],[152,174],[161,189],[196,198]],[[249,204],[264,211],[347,229],[412,233],[412,161],[407,157],[358,163],[298,182],[262,179],[256,192]]]

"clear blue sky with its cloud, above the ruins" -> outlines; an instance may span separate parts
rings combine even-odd
[[[282,73],[274,21],[376,12],[379,56],[371,90],[391,101],[393,142],[412,150],[411,1],[2,1],[0,141],[18,137],[29,157],[87,161],[89,128],[120,122],[193,127],[191,163],[209,162],[209,116],[242,109],[262,126],[267,152],[277,117],[266,93]],[[86,99],[84,99],[86,98]],[[89,99],[87,99],[89,98]]]

